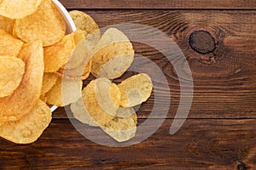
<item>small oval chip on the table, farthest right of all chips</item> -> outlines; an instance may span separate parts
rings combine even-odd
[[[118,87],[122,94],[120,105],[132,107],[142,104],[150,97],[153,84],[147,74],[141,73],[127,78]]]

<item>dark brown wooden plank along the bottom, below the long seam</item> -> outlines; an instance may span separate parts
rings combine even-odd
[[[79,122],[75,124],[82,128]],[[187,120],[172,136],[168,133],[171,124],[172,120],[166,120],[140,144],[114,148],[85,139],[68,120],[54,120],[33,144],[0,139],[1,169],[256,168],[255,119]],[[95,136],[95,130],[90,130]]]

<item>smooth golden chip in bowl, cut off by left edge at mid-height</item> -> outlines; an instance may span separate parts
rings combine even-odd
[[[0,56],[0,97],[13,94],[25,72],[25,63],[16,57]]]

